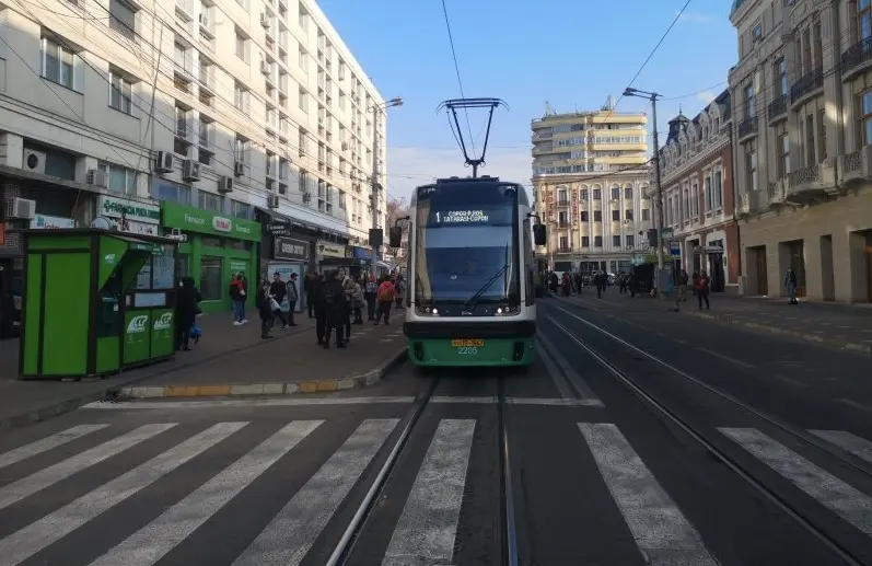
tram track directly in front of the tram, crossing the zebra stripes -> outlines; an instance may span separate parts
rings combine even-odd
[[[435,406],[438,397],[435,395],[443,378],[447,376],[445,370],[440,370],[433,376],[427,389],[418,395],[412,407],[400,420],[403,428],[392,444],[390,452],[381,464],[374,480],[365,487],[367,492],[356,509],[351,520],[342,532],[339,542],[333,550],[329,558],[324,563],[325,566],[353,566],[354,548],[365,540],[367,528],[374,521],[379,511],[380,500],[386,496],[387,489],[393,480],[400,474],[400,459],[409,448],[409,439],[419,427],[421,417],[427,409]],[[500,494],[500,523],[502,525],[499,541],[500,556],[497,564],[501,566],[518,566],[520,564],[518,536],[515,528],[514,494],[512,488],[512,470],[510,461],[510,441],[505,423],[505,383],[501,376],[497,376],[497,453],[499,458],[499,494]],[[437,401],[434,401],[437,398]]]

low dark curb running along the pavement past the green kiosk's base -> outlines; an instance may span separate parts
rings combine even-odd
[[[281,338],[287,338],[290,336],[294,336],[295,334],[306,332],[310,330],[309,327],[299,328],[297,331],[290,332],[288,334],[282,334]],[[28,411],[27,413],[19,413],[18,415],[10,415],[5,417],[0,417],[0,431],[8,432],[10,430],[14,430],[16,428],[24,427],[26,425],[31,425],[33,423],[40,423],[51,417],[60,416],[65,413],[70,413],[71,411],[75,411],[77,408],[81,407],[82,405],[88,405],[89,403],[93,403],[95,401],[105,401],[107,398],[113,398],[119,389],[123,389],[127,385],[131,385],[133,383],[139,383],[140,381],[144,381],[147,379],[151,379],[158,376],[163,376],[165,373],[170,373],[171,371],[177,371],[186,368],[190,368],[197,366],[198,363],[206,363],[209,361],[213,361],[216,359],[223,358],[224,356],[230,356],[232,354],[237,354],[248,348],[257,348],[259,346],[265,346],[267,344],[275,344],[276,340],[260,340],[252,343],[247,346],[240,346],[239,348],[233,348],[229,350],[221,351],[220,354],[216,354],[214,356],[209,356],[207,358],[202,358],[197,361],[186,361],[182,363],[170,363],[170,360],[162,361],[151,366],[156,371],[149,372],[144,376],[136,376],[130,377],[128,379],[120,378],[119,383],[114,383],[112,385],[106,385],[103,389],[100,389],[95,392],[88,393],[84,395],[80,395],[73,398],[67,398],[63,401],[58,401],[57,403],[51,403],[49,405],[45,405],[42,407],[37,407],[33,411]],[[179,358],[176,357],[176,360]],[[124,376],[120,373],[119,376]],[[106,380],[116,379],[114,377],[105,378]],[[86,381],[94,381],[94,380],[82,380],[82,383]]]

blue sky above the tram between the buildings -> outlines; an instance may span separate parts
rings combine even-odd
[[[508,112],[495,113],[481,173],[524,184],[532,174],[530,120],[543,115],[545,101],[572,112],[597,108],[609,94],[617,99],[685,3],[445,1],[465,95],[509,104]],[[633,83],[666,99],[699,93],[658,104],[661,132],[679,105],[695,115],[726,88],[736,59],[731,3],[691,1]],[[435,109],[461,96],[441,0],[318,0],[318,5],[382,96],[404,100],[388,111],[390,194],[408,197],[434,176],[468,174],[444,114]],[[617,109],[646,107],[643,100],[624,99]],[[486,118],[486,112],[469,115],[476,148]]]

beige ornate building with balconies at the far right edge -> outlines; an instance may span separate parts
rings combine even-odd
[[[735,0],[730,71],[748,294],[872,301],[870,0]]]

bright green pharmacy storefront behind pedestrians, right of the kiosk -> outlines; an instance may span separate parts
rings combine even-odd
[[[226,218],[199,208],[161,203],[166,232],[178,229],[186,241],[178,249],[178,276],[194,277],[205,312],[230,310],[231,277],[240,272],[249,289],[257,287],[260,223]]]

